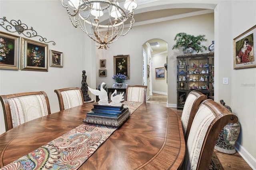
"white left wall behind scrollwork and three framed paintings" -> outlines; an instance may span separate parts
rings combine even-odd
[[[29,28],[33,27],[38,35],[56,42],[56,45],[48,43],[48,49],[63,52],[64,66],[48,67],[48,72],[0,69],[0,95],[45,91],[51,112],[54,113],[60,110],[54,89],[81,87],[82,70],[86,70],[88,84],[95,86],[95,76],[91,76],[91,68],[95,65],[95,59],[91,57],[94,45],[79,28],[72,26],[61,1],[0,0],[0,18],[4,16],[8,21],[20,20]],[[2,27],[0,30],[7,32]],[[18,33],[10,34],[22,36]],[[31,40],[39,42],[39,38]],[[0,134],[3,132],[4,116],[0,107]]]

